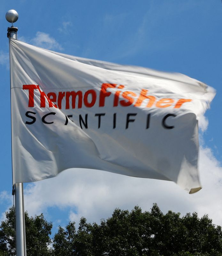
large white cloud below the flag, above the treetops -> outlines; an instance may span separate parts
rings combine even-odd
[[[25,209],[29,214],[47,212],[48,207],[70,207],[69,219],[78,223],[81,216],[99,222],[111,216],[114,208],[149,210],[154,202],[163,212],[172,210],[207,213],[222,225],[222,167],[209,148],[200,150],[203,189],[189,195],[173,182],[133,178],[103,171],[72,169],[58,177],[35,182],[25,189]]]

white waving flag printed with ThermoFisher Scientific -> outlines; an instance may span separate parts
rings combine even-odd
[[[88,168],[201,188],[198,119],[213,88],[12,38],[10,68],[13,184]]]

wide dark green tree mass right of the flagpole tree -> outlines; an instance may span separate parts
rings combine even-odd
[[[54,237],[55,256],[222,256],[221,227],[212,224],[207,215],[163,214],[157,204],[150,212],[142,212],[138,206],[131,212],[115,209],[100,225],[82,218],[78,231],[70,225],[74,223],[62,232],[60,227]],[[73,230],[72,239],[67,239],[68,230]],[[59,245],[57,241],[64,243],[64,238],[66,245]]]

